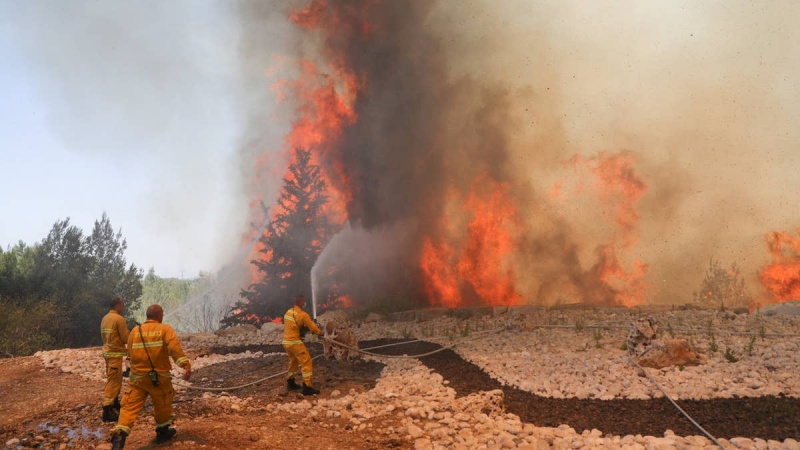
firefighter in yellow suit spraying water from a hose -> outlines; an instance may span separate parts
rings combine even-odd
[[[300,327],[306,327],[316,335],[322,334],[322,332],[317,327],[317,324],[311,320],[311,316],[303,311],[305,305],[305,297],[298,295],[294,300],[294,306],[283,315],[283,348],[286,349],[286,353],[289,355],[289,372],[287,373],[286,385],[290,391],[301,389],[301,386],[294,380],[295,375],[298,373],[299,365],[302,367],[303,395],[317,395],[319,390],[314,389],[311,384],[313,375],[311,355],[308,354],[308,349],[300,337]]]

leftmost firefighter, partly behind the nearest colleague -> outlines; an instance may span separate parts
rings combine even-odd
[[[125,301],[119,297],[111,300],[111,310],[100,321],[100,337],[103,339],[103,358],[106,360],[106,387],[103,390],[103,422],[119,419],[119,391],[122,389],[122,358],[128,342],[128,324]]]

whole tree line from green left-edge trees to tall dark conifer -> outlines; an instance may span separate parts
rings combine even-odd
[[[180,310],[171,318],[179,331],[261,324],[282,316],[295,295],[310,298],[311,268],[336,226],[325,214],[326,185],[311,151],[295,149],[293,156],[276,213],[265,208],[268,221],[259,227],[260,254],[251,261],[259,277],[232,307],[210,274],[160,278],[128,264],[127,242],[105,213],[88,235],[67,218],[41,242],[0,248],[0,357],[99,345],[99,322],[113,297],[125,299],[130,324],[153,303]],[[338,294],[328,291],[321,303],[335,305]]]

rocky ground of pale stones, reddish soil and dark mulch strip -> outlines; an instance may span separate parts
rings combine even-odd
[[[285,391],[279,326],[181,336],[195,373],[191,387],[178,387],[178,438],[160,447],[717,448],[666,392],[725,448],[800,449],[800,316],[485,312],[368,317],[353,331],[362,349],[379,347],[371,352],[383,356],[316,358],[322,394],[311,398]],[[662,338],[686,339],[703,362],[636,367],[624,344],[641,317],[654,318]],[[309,347],[322,353],[319,343]],[[0,361],[2,442],[109,448],[102,379],[99,349]],[[151,415],[148,406],[126,448],[153,447]]]

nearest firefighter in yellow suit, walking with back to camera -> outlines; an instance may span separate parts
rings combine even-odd
[[[111,431],[112,450],[125,446],[125,438],[130,434],[148,395],[153,399],[156,443],[166,442],[177,433],[175,428],[170,428],[175,391],[172,389],[169,358],[171,356],[175,364],[183,368],[184,380],[192,376],[192,364],[183,352],[175,330],[161,323],[163,319],[164,309],[159,305],[151,305],[147,308],[147,321],[131,330],[128,338],[131,377],[122,397],[119,422]],[[151,380],[151,371],[155,372],[157,383]]]

